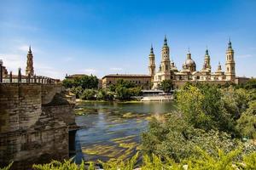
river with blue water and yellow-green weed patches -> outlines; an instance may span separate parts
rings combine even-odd
[[[175,108],[172,102],[81,102],[76,105],[80,127],[76,133],[77,162],[126,159],[140,148],[141,133],[152,116],[161,116]]]

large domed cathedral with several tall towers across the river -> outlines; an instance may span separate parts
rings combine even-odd
[[[229,41],[225,57],[225,71],[222,70],[220,63],[215,71],[212,71],[211,58],[208,49],[204,56],[204,64],[200,71],[196,70],[195,61],[188,51],[187,57],[183,63],[182,70],[179,71],[175,63],[170,59],[170,48],[165,37],[164,45],[161,49],[161,61],[158,71],[155,71],[154,50],[151,46],[149,54],[149,75],[152,77],[153,89],[160,86],[163,80],[172,80],[173,88],[183,86],[185,82],[207,82],[213,84],[225,84],[226,82],[236,82],[236,67],[234,59],[234,50]]]

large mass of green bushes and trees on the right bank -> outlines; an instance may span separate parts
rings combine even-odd
[[[165,122],[149,122],[143,133],[143,153],[181,162],[198,156],[196,146],[210,156],[218,156],[216,147],[224,153],[241,148],[240,156],[256,151],[254,89],[187,85],[177,92],[176,102],[177,112],[166,115]]]

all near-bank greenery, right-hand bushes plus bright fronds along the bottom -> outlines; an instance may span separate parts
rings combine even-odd
[[[104,169],[255,169],[256,80],[243,87],[186,84],[176,94],[177,111],[153,119],[142,134],[143,163],[101,162]],[[53,161],[35,169],[83,169]],[[88,167],[89,166],[89,167]],[[87,167],[94,169],[94,163]]]

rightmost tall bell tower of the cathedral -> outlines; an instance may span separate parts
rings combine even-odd
[[[231,41],[229,41],[229,46],[226,51],[226,71],[225,76],[226,80],[235,82],[236,80],[236,63],[234,59],[234,50],[232,48]]]

